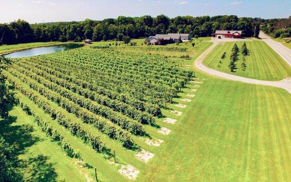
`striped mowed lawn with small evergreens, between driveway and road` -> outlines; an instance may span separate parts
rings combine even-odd
[[[246,69],[242,70],[242,53],[239,52],[238,61],[236,62],[237,69],[235,69],[235,72],[231,72],[228,65],[234,44],[234,42],[227,42],[223,45],[218,45],[206,57],[204,64],[219,71],[259,80],[275,81],[291,76],[291,67],[263,41],[246,42],[246,47],[249,50],[249,55],[245,57]],[[236,44],[241,51],[243,42],[236,42]],[[226,58],[221,59],[224,52],[226,52]],[[222,61],[222,64],[219,63],[220,61]]]

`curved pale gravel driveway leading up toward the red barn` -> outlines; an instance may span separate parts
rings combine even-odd
[[[279,88],[283,88],[287,90],[291,94],[291,78],[284,79],[281,81],[263,81],[263,80],[256,80],[256,79],[250,79],[250,78],[244,78],[236,75],[231,75],[228,73],[220,72],[214,69],[211,69],[210,67],[207,67],[203,64],[203,60],[206,58],[206,56],[217,46],[218,44],[221,44],[220,42],[214,42],[210,48],[208,48],[205,52],[203,52],[195,61],[194,65],[198,69],[216,77],[224,78],[227,80],[232,81],[238,81],[238,82],[244,82],[244,83],[252,83],[252,84],[261,84],[261,85],[268,85],[268,86],[275,86]]]

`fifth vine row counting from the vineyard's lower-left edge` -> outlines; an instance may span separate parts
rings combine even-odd
[[[39,70],[39,69],[34,68],[32,66],[22,65],[22,64],[20,66],[21,67],[14,66],[14,68],[17,67],[18,70],[20,69],[23,72],[26,72],[26,70],[24,68],[22,68],[22,67],[25,67],[26,69],[32,71],[33,73],[35,73],[41,77],[46,78],[47,80],[49,80],[52,83],[56,83],[58,85],[61,85],[62,87],[65,87],[74,93],[77,93],[85,98],[89,98],[93,101],[96,101],[98,104],[107,106],[107,107],[113,109],[114,111],[120,112],[123,115],[131,117],[132,119],[138,120],[143,124],[155,124],[155,118],[152,115],[150,115],[146,112],[136,110],[134,107],[132,107],[124,102],[121,102],[119,100],[110,99],[106,96],[96,94],[95,92],[93,92],[89,89],[85,89],[85,88],[83,88],[79,85],[76,85],[74,83],[67,82],[63,79],[60,79],[60,78],[53,76],[53,75],[50,75],[47,72]],[[26,74],[31,75],[29,72],[27,72]]]

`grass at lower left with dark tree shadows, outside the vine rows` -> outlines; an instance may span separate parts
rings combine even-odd
[[[32,116],[28,116],[19,106],[14,107],[9,114],[10,118],[0,120],[0,133],[13,147],[13,158],[20,165],[16,169],[24,174],[26,181],[41,180],[41,176],[48,181],[86,180],[79,172],[76,159],[67,157],[57,143],[52,142],[34,123]],[[38,155],[44,155],[45,160],[41,160]],[[34,162],[28,163],[29,158],[33,158]]]

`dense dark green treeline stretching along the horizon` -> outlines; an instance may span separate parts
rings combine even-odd
[[[15,20],[0,24],[0,45],[28,42],[122,40],[123,36],[142,38],[164,33],[190,33],[192,37],[210,36],[215,30],[242,30],[242,36],[250,37],[254,28],[267,19],[252,17],[222,16],[178,16],[124,17],[103,20],[52,22],[29,24]]]

